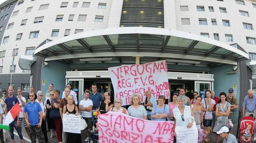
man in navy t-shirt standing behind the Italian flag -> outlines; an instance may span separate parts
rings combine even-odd
[[[17,97],[13,96],[13,87],[12,85],[9,86],[8,88],[8,97],[5,99],[5,116],[7,115],[7,112],[9,112],[11,110],[11,108],[16,104],[20,104],[19,100]],[[22,133],[21,133],[21,127],[19,125],[19,121],[17,121],[17,119],[19,118],[19,114],[17,115],[17,117],[14,119],[14,121],[12,121],[10,124],[9,124],[9,128],[10,128],[10,136],[11,136],[11,139],[12,139],[12,143],[14,143],[14,134],[13,134],[13,131],[15,128],[16,131],[18,132],[18,135],[20,137],[20,141],[22,143],[24,143],[23,141],[23,136],[22,136]]]

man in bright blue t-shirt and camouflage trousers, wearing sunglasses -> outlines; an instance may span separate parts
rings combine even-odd
[[[44,137],[42,134],[41,124],[43,119],[43,112],[41,105],[38,102],[35,102],[35,93],[30,91],[29,101],[25,104],[23,109],[23,115],[26,120],[27,126],[30,127],[30,140],[31,143],[36,143],[36,137],[38,138],[39,143],[45,143]],[[26,112],[28,115],[28,120],[26,117]],[[40,116],[40,119],[39,119]]]

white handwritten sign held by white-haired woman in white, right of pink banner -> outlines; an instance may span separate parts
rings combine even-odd
[[[191,128],[175,127],[177,143],[198,143],[198,130],[196,126]]]

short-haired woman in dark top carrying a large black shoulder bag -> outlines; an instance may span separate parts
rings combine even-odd
[[[54,98],[52,98],[52,108],[59,109],[59,98],[60,91],[55,90],[54,91]],[[62,142],[62,121],[61,117],[54,119],[55,127],[56,127],[56,135],[57,135],[57,140],[59,142]]]

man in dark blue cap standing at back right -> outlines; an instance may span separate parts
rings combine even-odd
[[[229,119],[231,119],[232,123],[235,123],[235,112],[236,109],[238,108],[238,101],[237,98],[233,96],[234,89],[229,88],[229,96],[228,96],[228,102],[231,104],[231,109],[230,109],[230,114],[229,114]]]

